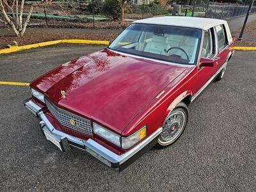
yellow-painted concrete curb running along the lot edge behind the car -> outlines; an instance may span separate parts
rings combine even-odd
[[[7,54],[11,52],[22,51],[26,49],[32,49],[36,47],[45,47],[48,45],[55,44],[88,44],[88,45],[109,45],[108,41],[97,41],[97,40],[79,40],[79,39],[70,39],[70,40],[55,40],[51,42],[42,42],[38,44],[22,45],[22,46],[12,46],[9,49],[1,49],[0,54]],[[239,51],[256,51],[256,47],[233,47],[234,50]]]

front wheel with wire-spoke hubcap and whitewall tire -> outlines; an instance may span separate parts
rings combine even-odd
[[[173,109],[164,121],[163,131],[158,139],[159,147],[166,147],[178,140],[184,131],[187,122],[188,107],[186,104],[181,102],[175,109]]]

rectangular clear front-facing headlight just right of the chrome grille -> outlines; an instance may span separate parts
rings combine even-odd
[[[114,143],[118,147],[121,147],[120,136],[118,136],[117,134],[108,131],[107,129],[104,129],[103,127],[95,123],[93,123],[93,132],[101,136],[102,138],[110,141],[111,143]]]

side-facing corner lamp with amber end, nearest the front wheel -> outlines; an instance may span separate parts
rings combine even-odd
[[[145,125],[139,131],[135,132],[128,138],[122,138],[122,148],[130,148],[140,140],[143,140],[147,136],[147,126]]]

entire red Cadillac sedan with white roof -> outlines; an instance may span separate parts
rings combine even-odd
[[[137,20],[106,49],[31,82],[24,106],[60,150],[79,148],[120,171],[180,137],[189,104],[223,78],[234,41],[225,20]]]

